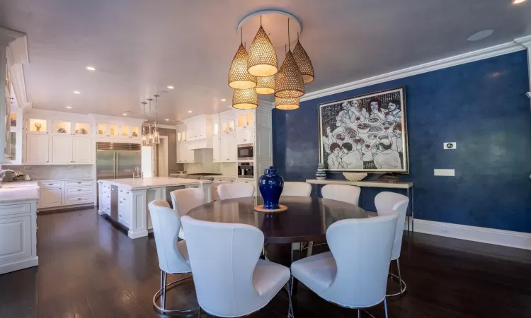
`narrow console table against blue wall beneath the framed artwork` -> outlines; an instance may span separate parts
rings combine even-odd
[[[316,184],[315,186],[315,196],[317,196],[317,184],[345,184],[353,185],[356,187],[371,187],[371,188],[385,188],[385,189],[406,189],[407,197],[409,198],[410,204],[408,204],[408,211],[406,212],[406,219],[408,222],[408,232],[409,232],[409,221],[411,220],[411,232],[414,231],[413,219],[415,218],[415,213],[413,209],[413,182],[386,182],[386,181],[348,181],[348,180],[335,180],[335,179],[307,179],[307,183]]]

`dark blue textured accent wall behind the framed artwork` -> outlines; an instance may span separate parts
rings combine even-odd
[[[313,178],[318,105],[405,86],[410,174],[402,180],[415,184],[416,218],[531,232],[528,80],[521,51],[273,110],[273,163],[287,181]],[[445,141],[457,149],[443,150]],[[434,168],[453,168],[455,177],[435,177]],[[363,188],[360,206],[374,209],[379,191]]]

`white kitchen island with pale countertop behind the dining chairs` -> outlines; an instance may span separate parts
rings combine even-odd
[[[147,236],[152,230],[147,205],[153,200],[171,201],[171,189],[198,188],[205,192],[205,203],[212,201],[212,181],[171,177],[98,180],[98,213],[128,229],[132,239]]]

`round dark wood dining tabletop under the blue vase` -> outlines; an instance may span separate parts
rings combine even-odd
[[[367,218],[359,206],[330,199],[281,196],[280,204],[287,206],[281,213],[254,211],[259,204],[263,204],[261,196],[215,201],[193,208],[187,215],[196,220],[256,226],[262,230],[265,243],[320,241],[338,220]]]

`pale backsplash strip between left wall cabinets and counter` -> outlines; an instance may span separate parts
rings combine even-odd
[[[32,180],[93,178],[93,165],[4,165],[30,175]]]

